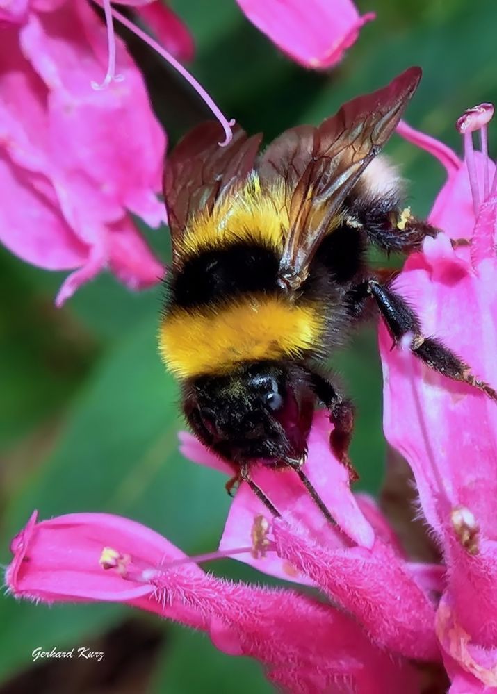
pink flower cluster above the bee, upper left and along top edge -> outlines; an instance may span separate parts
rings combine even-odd
[[[231,123],[174,59],[194,52],[176,15],[161,0],[122,3],[164,48],[110,0],[102,0],[107,31],[90,0],[8,0],[0,7],[0,241],[28,263],[73,270],[58,292],[59,306],[104,268],[133,289],[164,272],[131,215],[152,227],[165,222],[156,197],[165,134],[138,68],[115,38],[112,17],[186,76],[231,137]],[[350,0],[334,3],[333,11],[327,1],[312,0],[304,13],[293,0],[239,4],[308,67],[336,63],[372,16],[361,19]]]

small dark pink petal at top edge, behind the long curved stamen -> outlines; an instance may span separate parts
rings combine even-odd
[[[185,24],[161,0],[136,6],[135,12],[148,24],[166,51],[179,60],[193,60],[195,43]]]

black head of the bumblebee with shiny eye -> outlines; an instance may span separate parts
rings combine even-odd
[[[315,400],[295,364],[256,362],[187,383],[184,411],[198,438],[223,458],[278,463],[307,452]]]

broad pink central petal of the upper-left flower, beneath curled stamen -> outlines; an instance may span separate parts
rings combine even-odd
[[[164,220],[165,211],[158,203],[151,207],[150,195],[161,188],[165,138],[124,44],[117,47],[124,81],[101,91],[91,82],[104,69],[105,31],[85,0],[31,15],[22,47],[51,90],[51,152],[60,170],[67,176],[84,172],[101,204],[128,207],[150,224]]]

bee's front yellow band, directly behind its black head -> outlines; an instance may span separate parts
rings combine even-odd
[[[223,374],[243,361],[298,358],[323,331],[317,305],[284,297],[243,297],[197,309],[174,309],[159,329],[159,352],[181,378]]]

